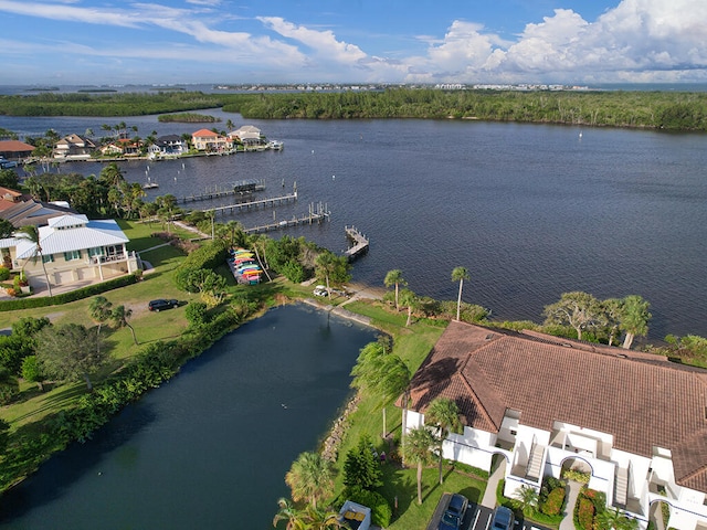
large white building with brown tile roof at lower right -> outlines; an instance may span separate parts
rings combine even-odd
[[[658,356],[451,322],[412,380],[404,427],[452,399],[464,430],[444,457],[505,464],[505,496],[578,469],[641,528],[664,502],[669,527],[704,529],[706,375]]]

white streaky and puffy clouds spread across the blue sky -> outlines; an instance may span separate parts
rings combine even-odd
[[[180,6],[134,2],[89,7],[76,0],[0,0],[3,13],[116,26],[147,39],[141,45],[115,46],[107,39],[82,40],[80,32],[61,41],[56,36],[56,42],[50,41],[52,34],[27,35],[23,45],[6,46],[6,57],[30,53],[27,43],[34,39],[38,45],[46,44],[44,56],[53,53],[54,45],[72,50],[76,57],[98,55],[118,61],[123,55],[126,61],[138,61],[143,54],[145,62],[183,57],[211,72],[219,72],[222,64],[238,66],[241,72],[251,68],[263,81],[707,80],[705,0],[622,0],[595,20],[585,20],[571,9],[556,9],[551,15],[528,23],[513,40],[504,40],[474,21],[452,20],[444,33],[405,35],[426,45],[416,53],[371,53],[365,41],[347,42],[350,39],[341,39],[331,29],[282,17],[244,19],[230,13],[222,0],[186,0]]]

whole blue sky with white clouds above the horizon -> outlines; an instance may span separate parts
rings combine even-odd
[[[705,0],[0,0],[0,84],[707,82]]]

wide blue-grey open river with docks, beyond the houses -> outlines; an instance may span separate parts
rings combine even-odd
[[[238,115],[213,114],[222,128],[229,118],[243,125]],[[150,116],[125,121],[143,137],[197,128]],[[0,127],[21,134],[99,134],[102,123],[0,117]],[[461,120],[247,123],[285,149],[151,163],[160,188],[149,197],[249,178],[265,179],[265,194],[275,195],[283,180],[287,192],[296,181],[299,201],[275,218],[326,203],[330,223],[288,233],[333,251],[346,247],[346,224],[358,226],[371,250],[356,263],[355,280],[382,287],[388,271],[402,268],[415,293],[455,299],[451,271],[465,266],[464,300],[498,319],[541,321],[542,308],[571,290],[602,299],[637,294],[651,303],[652,340],[707,337],[705,135]],[[146,162],[124,168],[129,180],[146,180]],[[62,170],[98,173],[101,166]],[[233,219],[253,226],[272,222],[273,211]]]

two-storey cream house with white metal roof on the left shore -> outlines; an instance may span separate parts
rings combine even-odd
[[[140,268],[139,257],[128,252],[128,237],[112,219],[61,215],[39,227],[39,247],[27,237],[0,240],[0,252],[9,254],[14,269],[24,269],[30,286],[52,287],[74,282],[102,282]],[[40,251],[41,250],[41,251]]]

